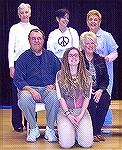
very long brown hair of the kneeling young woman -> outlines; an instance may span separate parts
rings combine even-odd
[[[79,54],[79,64],[77,68],[77,82],[73,82],[73,79],[70,73],[69,63],[68,63],[68,54],[73,49],[77,50]],[[81,51],[79,51],[79,49],[75,47],[71,47],[64,52],[58,82],[64,90],[70,92],[71,94],[74,94],[74,92],[76,92],[76,89],[79,87],[83,96],[86,97],[87,95],[86,91],[88,91],[88,88],[91,84],[90,74],[88,70],[86,69],[83,54]]]

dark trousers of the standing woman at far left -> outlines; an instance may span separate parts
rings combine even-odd
[[[17,89],[12,83],[12,125],[14,129],[23,127],[22,125],[22,111],[18,106]],[[27,127],[27,121],[24,118],[24,126]]]

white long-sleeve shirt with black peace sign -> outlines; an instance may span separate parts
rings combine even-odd
[[[65,32],[55,29],[48,36],[47,49],[58,58],[62,58],[65,50],[70,47],[79,48],[79,36],[75,29],[69,27]]]

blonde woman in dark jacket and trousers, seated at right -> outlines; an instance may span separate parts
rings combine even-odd
[[[89,31],[80,36],[80,45],[84,53],[86,68],[92,75],[92,95],[88,106],[93,124],[94,142],[104,141],[101,129],[110,105],[107,92],[109,76],[103,57],[95,53],[97,47],[96,35]]]

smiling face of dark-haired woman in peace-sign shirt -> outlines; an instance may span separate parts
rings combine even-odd
[[[64,17],[58,18],[56,17],[56,20],[58,21],[59,28],[66,28],[69,23],[69,14],[65,14]]]

